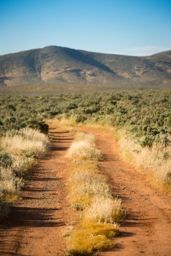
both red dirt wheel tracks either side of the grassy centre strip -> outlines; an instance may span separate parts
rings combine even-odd
[[[158,191],[121,160],[114,138],[105,132],[90,131],[103,153],[99,169],[106,175],[113,193],[122,198],[125,219],[115,238],[113,251],[100,255],[171,255],[171,199]],[[74,219],[67,194],[69,160],[65,157],[73,135],[52,130],[52,151],[27,178],[21,191],[23,200],[11,207],[1,225],[1,255],[65,255],[62,229]]]

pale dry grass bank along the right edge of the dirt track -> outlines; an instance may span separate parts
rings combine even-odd
[[[169,138],[171,140],[171,136]],[[160,182],[166,179],[171,166],[171,145],[153,143],[151,148],[142,147],[133,140],[121,139],[121,153],[125,160],[134,164],[145,173],[152,174]]]

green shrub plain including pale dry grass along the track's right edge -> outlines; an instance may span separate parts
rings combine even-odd
[[[120,141],[126,160],[170,191],[170,106],[171,92],[166,89],[1,96],[1,140],[5,136],[23,136],[28,128],[47,134],[46,119],[70,125],[100,125],[100,129],[111,131]],[[1,150],[12,152],[9,146],[7,152],[2,142]],[[36,150],[33,151],[35,154]]]

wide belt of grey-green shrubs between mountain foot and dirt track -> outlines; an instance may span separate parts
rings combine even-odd
[[[171,134],[170,90],[141,90],[45,96],[1,96],[0,134],[24,126],[48,132],[43,118],[72,118],[76,123],[98,122],[136,137]],[[148,143],[147,143],[148,144]],[[150,144],[150,143],[149,143]]]

